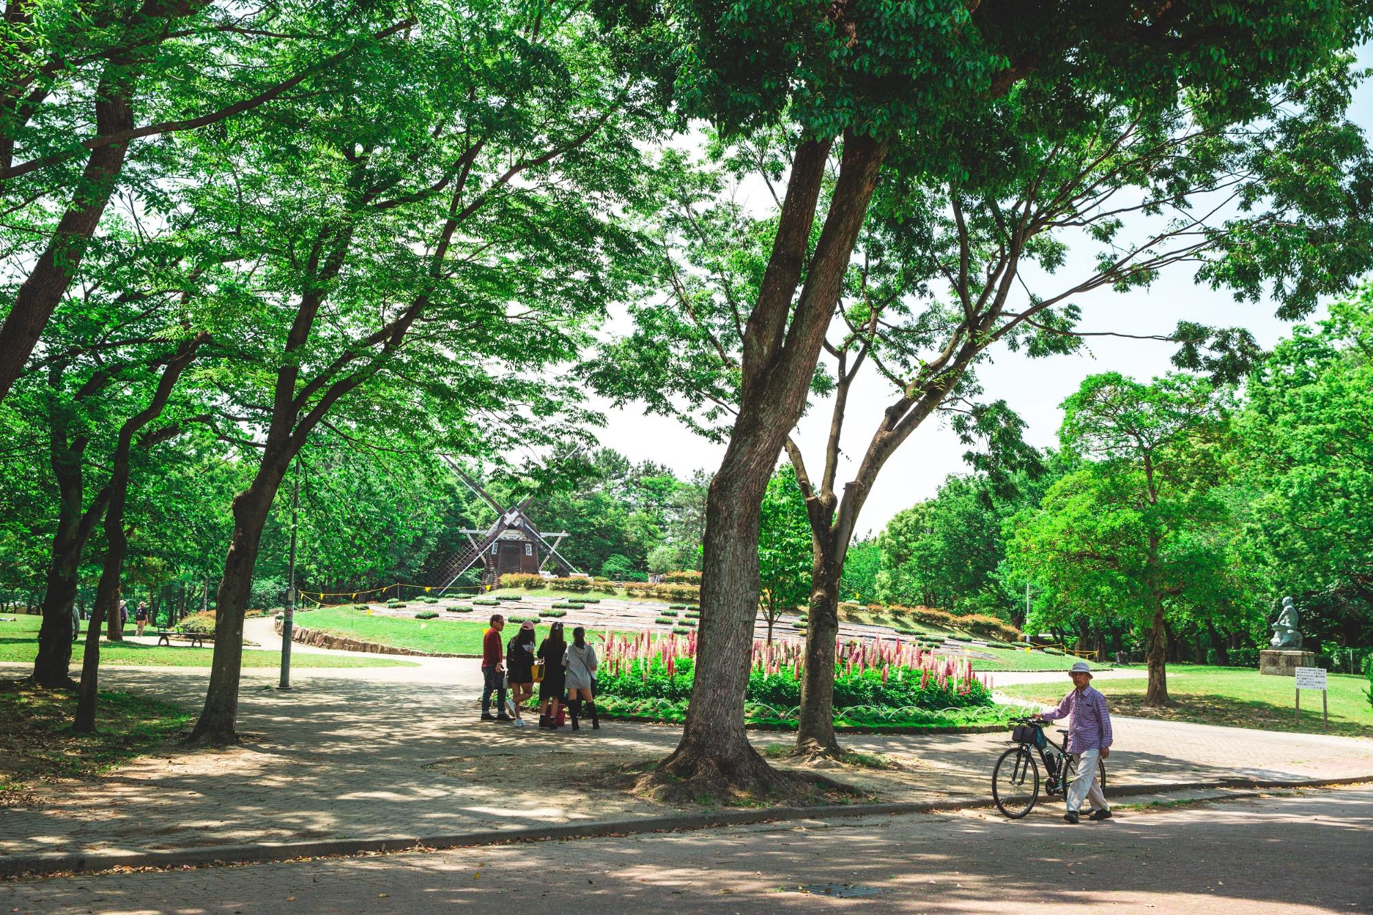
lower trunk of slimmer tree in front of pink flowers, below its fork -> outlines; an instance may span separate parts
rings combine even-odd
[[[839,637],[839,573],[843,558],[835,538],[816,542],[810,569],[810,621],[800,679],[796,754],[810,759],[840,752],[835,738],[835,639]]]

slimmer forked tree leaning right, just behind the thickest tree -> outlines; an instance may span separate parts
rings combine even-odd
[[[973,369],[991,347],[1004,343],[1043,357],[1111,335],[1079,326],[1076,296],[1144,285],[1178,265],[1240,298],[1260,298],[1273,283],[1285,314],[1313,307],[1319,292],[1337,289],[1348,270],[1361,269],[1362,255],[1351,259],[1344,246],[1326,244],[1332,236],[1362,244],[1373,214],[1363,188],[1369,154],[1359,130],[1341,119],[1354,84],[1348,67],[1335,58],[1306,78],[1274,86],[1263,99],[1262,122],[1254,121],[1255,99],[1218,111],[1168,89],[1148,102],[1093,93],[1070,104],[1060,86],[1031,82],[994,103],[986,121],[967,121],[950,148],[962,165],[958,177],[917,181],[898,173],[879,189],[857,243],[859,259],[840,294],[833,339],[824,340],[831,368],[810,384],[831,402],[820,461],[784,439],[816,538],[798,752],[838,749],[827,672],[833,668],[840,576],[868,495],[902,443],[943,413],[967,443],[982,443],[969,457],[994,479],[1038,464],[1020,440],[1020,418],[1004,402],[980,402]],[[1311,145],[1296,151],[1293,137]],[[989,147],[1022,152],[989,166]],[[1325,166],[1308,167],[1322,156]],[[895,166],[899,154],[888,161]],[[1351,177],[1333,188],[1326,176],[1341,170]],[[735,383],[747,357],[740,292],[754,288],[761,257],[757,248],[732,255],[730,246],[763,239],[768,229],[732,203],[715,203],[711,191],[699,178],[680,182],[666,221],[684,261],[667,269],[673,298],[641,309],[637,333],[622,347],[648,358],[618,361],[659,373],[655,380],[670,394],[648,392],[655,409],[680,412],[684,399],[688,407],[739,403],[743,416]],[[1216,207],[1236,200],[1248,202],[1247,209],[1211,219]],[[1163,210],[1174,217],[1152,217]],[[721,224],[724,232],[715,229]],[[1083,233],[1086,243],[1101,244],[1093,269],[1054,280],[1068,240],[1086,244]],[[1251,244],[1260,237],[1265,258],[1255,262]],[[1030,289],[1031,283],[1049,288]],[[669,309],[677,317],[665,318]],[[1178,365],[1225,377],[1243,370],[1256,348],[1243,329],[1190,322],[1153,339],[1182,344]],[[865,369],[894,395],[853,479],[840,486],[849,394]]]

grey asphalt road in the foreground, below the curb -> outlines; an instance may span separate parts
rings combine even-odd
[[[1370,848],[1373,790],[1315,790],[1081,826],[971,811],[63,877],[0,885],[0,908],[1313,915],[1373,911]]]

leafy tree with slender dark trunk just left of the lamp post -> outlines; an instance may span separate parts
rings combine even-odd
[[[503,428],[548,435],[573,394],[540,368],[575,353],[634,257],[612,214],[654,125],[589,16],[575,4],[417,12],[423,29],[309,81],[316,110],[196,134],[196,224],[242,255],[238,295],[264,326],[255,368],[227,381],[255,472],[233,499],[192,739],[235,739],[253,568],[308,436],[445,423],[448,444],[475,451],[508,440]]]

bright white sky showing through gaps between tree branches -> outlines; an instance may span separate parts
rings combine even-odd
[[[1359,60],[1365,66],[1373,64],[1373,49],[1363,48]],[[1352,111],[1354,119],[1365,130],[1373,128],[1373,86],[1361,86]],[[1060,281],[1085,276],[1090,270],[1083,254],[1085,250],[1076,257],[1070,255],[1068,263],[1057,273]],[[1049,289],[1046,287],[1042,291]],[[1225,289],[1212,292],[1208,287],[1195,285],[1185,265],[1166,270],[1149,289],[1124,295],[1098,289],[1078,298],[1076,303],[1082,306],[1081,328],[1085,331],[1170,333],[1179,320],[1188,320],[1207,325],[1245,326],[1259,346],[1267,348],[1291,329],[1288,322],[1273,316],[1271,302],[1237,303]],[[1308,321],[1315,317],[1319,316],[1313,316]],[[1173,368],[1168,359],[1175,348],[1175,344],[1163,342],[1094,337],[1075,355],[1030,359],[998,347],[993,351],[993,361],[978,368],[978,375],[984,390],[983,399],[1005,399],[1028,424],[1026,438],[1043,447],[1057,442],[1059,424],[1063,421],[1059,405],[1078,388],[1082,379],[1108,370],[1149,379]],[[844,425],[844,444],[854,454],[862,455],[890,398],[890,385],[875,373],[859,375],[850,395]],[[596,406],[604,410],[607,418],[605,428],[600,429],[601,444],[621,451],[632,461],[656,461],[673,468],[678,476],[691,475],[697,468],[714,472],[719,465],[724,446],[693,435],[671,418],[648,416],[633,406],[622,410],[610,409],[604,402]],[[800,421],[798,440],[813,473],[818,472],[828,425],[828,402],[816,403]],[[949,473],[967,472],[968,466],[962,461],[965,450],[951,431],[931,417],[883,468],[859,516],[858,534],[880,531],[892,514],[934,495]],[[851,479],[851,471],[853,462],[843,462],[839,479]]]

